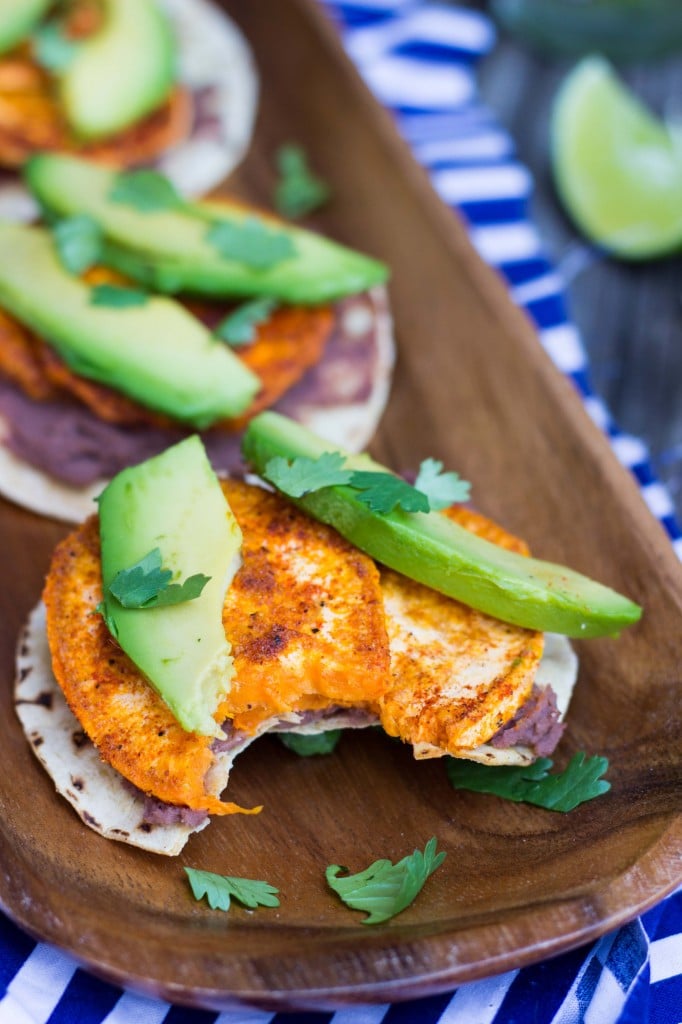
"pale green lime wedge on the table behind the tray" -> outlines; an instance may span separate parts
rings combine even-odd
[[[682,248],[682,142],[601,57],[568,75],[552,112],[559,196],[593,242],[625,259]]]

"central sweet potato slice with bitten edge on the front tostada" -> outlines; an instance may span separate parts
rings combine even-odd
[[[221,713],[253,731],[290,711],[374,707],[389,680],[375,563],[276,495],[224,488],[244,565],[223,607],[236,682]]]

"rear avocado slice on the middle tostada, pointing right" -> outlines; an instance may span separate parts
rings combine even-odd
[[[38,154],[26,181],[51,217],[88,214],[106,238],[103,262],[155,291],[194,292],[214,298],[271,296],[318,304],[363,292],[388,276],[384,263],[233,202],[182,202],[140,212],[112,199],[116,171],[76,157]],[[227,258],[211,243],[216,225],[288,240],[290,253],[267,267]]]

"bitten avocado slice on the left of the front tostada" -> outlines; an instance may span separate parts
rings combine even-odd
[[[199,437],[119,473],[99,498],[99,531],[116,639],[184,729],[219,735],[213,715],[233,671],[222,605],[241,564],[242,534]],[[182,604],[124,608],[109,592],[112,580],[155,548],[173,582],[198,572],[210,581]]]

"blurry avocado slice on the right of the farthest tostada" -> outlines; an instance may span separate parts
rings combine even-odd
[[[175,39],[155,0],[104,0],[102,28],[79,47],[60,79],[67,119],[83,139],[135,124],[167,98]]]

